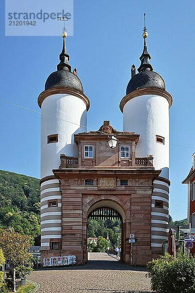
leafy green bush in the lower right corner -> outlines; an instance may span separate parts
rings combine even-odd
[[[166,253],[148,263],[152,289],[158,293],[195,293],[195,257]]]

